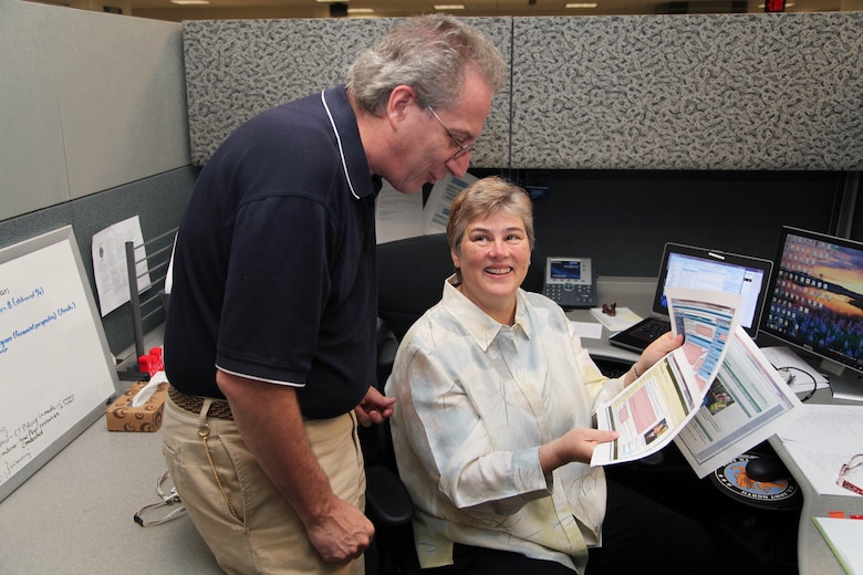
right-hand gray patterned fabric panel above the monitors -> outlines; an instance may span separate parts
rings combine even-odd
[[[863,168],[863,12],[517,18],[513,168]]]

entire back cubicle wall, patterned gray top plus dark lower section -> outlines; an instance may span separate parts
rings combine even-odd
[[[512,69],[470,169],[549,184],[545,253],[655,275],[665,241],[772,258],[782,224],[851,221],[863,13],[469,21]],[[339,82],[396,23],[186,22],[195,164],[253,113]]]

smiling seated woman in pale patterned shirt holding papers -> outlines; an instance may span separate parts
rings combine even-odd
[[[531,201],[499,178],[454,200],[456,273],[404,337],[387,381],[398,470],[416,504],[432,573],[705,573],[713,543],[689,519],[591,468],[617,437],[592,406],[682,344],[654,342],[622,378],[604,377],[563,311],[521,290]]]

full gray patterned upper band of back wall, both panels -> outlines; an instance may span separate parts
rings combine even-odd
[[[472,167],[863,168],[863,12],[467,20],[512,70]],[[397,22],[186,22],[194,163]]]

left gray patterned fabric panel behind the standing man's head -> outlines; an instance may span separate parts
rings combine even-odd
[[[509,62],[510,18],[466,19]],[[256,114],[342,82],[354,58],[399,19],[205,20],[184,22],[191,160],[206,164]],[[509,86],[496,97],[471,165],[509,160]]]

